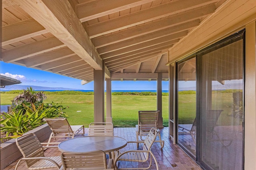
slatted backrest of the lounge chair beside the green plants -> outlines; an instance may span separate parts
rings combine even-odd
[[[68,120],[66,118],[46,118],[44,121],[47,122],[53,134],[67,133],[69,135],[73,134],[73,130],[70,127]]]

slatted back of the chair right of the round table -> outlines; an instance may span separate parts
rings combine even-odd
[[[156,140],[156,136],[158,135],[158,128],[151,128],[148,132],[148,136],[146,136],[144,143],[143,143],[143,149],[142,150],[150,150],[152,144]],[[143,152],[144,156],[148,158],[149,152]]]

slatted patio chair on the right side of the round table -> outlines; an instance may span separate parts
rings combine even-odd
[[[143,150],[127,150],[122,153],[116,152],[116,160],[114,161],[114,166],[116,169],[149,169],[152,164],[152,158],[156,163],[156,170],[158,170],[158,163],[156,157],[151,151],[151,146],[154,143],[156,136],[159,130],[156,128],[151,128],[148,132],[148,136],[146,136],[144,141],[128,141],[128,143],[143,143]],[[149,166],[147,168],[118,168],[118,161],[131,161],[131,162],[147,162],[150,159]]]

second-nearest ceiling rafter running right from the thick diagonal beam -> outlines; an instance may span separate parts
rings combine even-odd
[[[148,10],[142,10],[110,21],[88,26],[87,32],[90,38],[94,38],[214,2],[218,2],[218,0],[177,0],[154,8],[149,8]]]

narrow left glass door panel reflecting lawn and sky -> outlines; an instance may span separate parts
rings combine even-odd
[[[196,155],[196,57],[177,64],[177,143]]]

